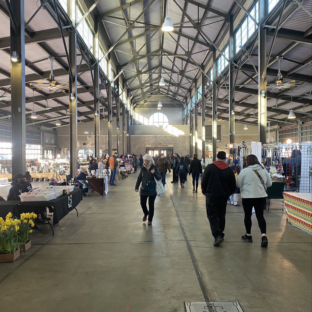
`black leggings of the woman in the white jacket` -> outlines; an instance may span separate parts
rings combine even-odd
[[[266,197],[243,198],[242,204],[245,212],[244,223],[246,233],[251,234],[252,207],[255,208],[256,218],[258,220],[258,225],[260,227],[261,234],[266,233],[266,220],[263,217],[263,208],[266,207]]]

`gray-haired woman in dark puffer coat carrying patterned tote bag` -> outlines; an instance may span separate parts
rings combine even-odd
[[[145,154],[143,156],[143,161],[144,165],[140,169],[134,191],[140,192],[140,204],[144,213],[143,222],[149,217],[147,225],[152,225],[154,217],[154,202],[157,196],[155,179],[160,180],[161,176],[151,155]],[[141,182],[142,185],[139,191]],[[146,206],[147,199],[149,199],[149,210]]]

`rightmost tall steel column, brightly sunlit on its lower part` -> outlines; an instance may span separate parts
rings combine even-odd
[[[258,140],[266,143],[266,72],[261,77],[266,66],[266,28],[262,24],[268,10],[267,0],[259,1],[258,27]],[[261,96],[263,94],[264,96]]]

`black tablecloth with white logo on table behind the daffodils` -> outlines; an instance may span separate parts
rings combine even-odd
[[[48,202],[19,202],[19,205],[15,207],[15,212],[18,213],[21,210],[20,206],[23,206],[22,212],[35,212],[29,211],[29,206],[34,209],[42,209],[42,207],[53,207],[53,225],[60,222],[70,211],[76,208],[76,206],[82,201],[82,190],[74,190],[69,195],[60,196],[56,199],[49,200]],[[1,207],[1,206],[0,206]],[[13,210],[14,211],[14,210]],[[12,212],[13,213],[13,212]],[[13,213],[14,214],[14,213]],[[14,214],[15,215],[15,214]],[[19,216],[19,215],[18,215]]]

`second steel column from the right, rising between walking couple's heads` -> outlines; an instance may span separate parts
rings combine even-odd
[[[230,27],[229,27],[229,143],[234,143],[235,135],[235,115],[232,115],[232,111],[235,112],[235,73],[233,58],[235,56],[234,46],[234,32],[233,32],[233,15],[230,15]],[[233,149],[230,149],[230,154],[233,154]]]

